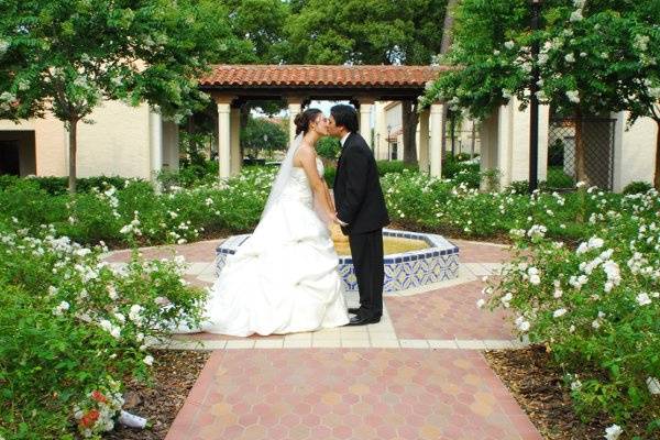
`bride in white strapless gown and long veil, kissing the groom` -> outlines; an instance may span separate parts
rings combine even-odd
[[[194,331],[248,337],[349,322],[339,258],[320,218],[337,221],[315,150],[317,141],[328,135],[328,120],[320,110],[308,109],[295,123],[297,138],[282,163],[261,221],[227,258],[210,289],[205,320]]]

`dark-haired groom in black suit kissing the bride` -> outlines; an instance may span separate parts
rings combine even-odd
[[[383,227],[389,223],[378,169],[372,151],[358,133],[358,113],[351,106],[330,109],[328,133],[341,142],[334,205],[341,230],[349,235],[360,289],[360,308],[349,309],[355,315],[349,326],[375,323],[383,315]]]

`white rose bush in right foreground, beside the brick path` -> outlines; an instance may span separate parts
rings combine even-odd
[[[534,216],[512,230],[518,257],[491,283],[486,299],[493,308],[510,308],[518,332],[553,353],[583,417],[606,415],[622,425],[657,420],[660,197],[582,188],[571,199],[564,209],[588,218],[580,245],[553,242],[552,217]]]

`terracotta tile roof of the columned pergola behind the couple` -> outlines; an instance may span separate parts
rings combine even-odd
[[[202,87],[424,87],[449,67],[217,65]]]

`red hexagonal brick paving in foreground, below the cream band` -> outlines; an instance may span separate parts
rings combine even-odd
[[[166,440],[540,440],[479,352],[228,350]]]

